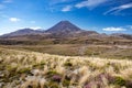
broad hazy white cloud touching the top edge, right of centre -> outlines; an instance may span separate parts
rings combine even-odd
[[[81,1],[80,3],[77,3],[75,7],[76,8],[84,8],[84,7],[87,7],[87,8],[96,8],[98,6],[100,6],[101,3],[105,3],[109,0],[87,0],[87,1]]]

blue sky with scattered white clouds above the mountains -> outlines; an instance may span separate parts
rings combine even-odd
[[[0,0],[0,34],[47,30],[62,20],[82,30],[132,34],[132,0]]]

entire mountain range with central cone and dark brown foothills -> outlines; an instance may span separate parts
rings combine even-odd
[[[117,40],[118,42],[116,42]],[[123,42],[120,40],[123,40]],[[23,41],[23,44],[26,44],[28,41],[30,41],[28,44],[123,44],[125,42],[132,43],[132,35],[120,33],[111,35],[100,34],[96,31],[81,30],[69,21],[61,21],[46,31],[21,29],[0,36],[0,44],[21,44],[22,42],[20,41]]]

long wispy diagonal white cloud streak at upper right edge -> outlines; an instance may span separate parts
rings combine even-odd
[[[116,8],[112,8],[112,9],[110,9],[110,10],[108,10],[108,11],[105,12],[103,14],[120,12],[120,11],[122,11],[122,10],[130,9],[130,8],[132,8],[132,3],[122,4],[122,6],[120,6],[120,7],[116,7]]]

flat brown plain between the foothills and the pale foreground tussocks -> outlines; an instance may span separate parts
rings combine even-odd
[[[132,45],[51,44],[1,45],[1,47],[54,55],[132,59]]]

